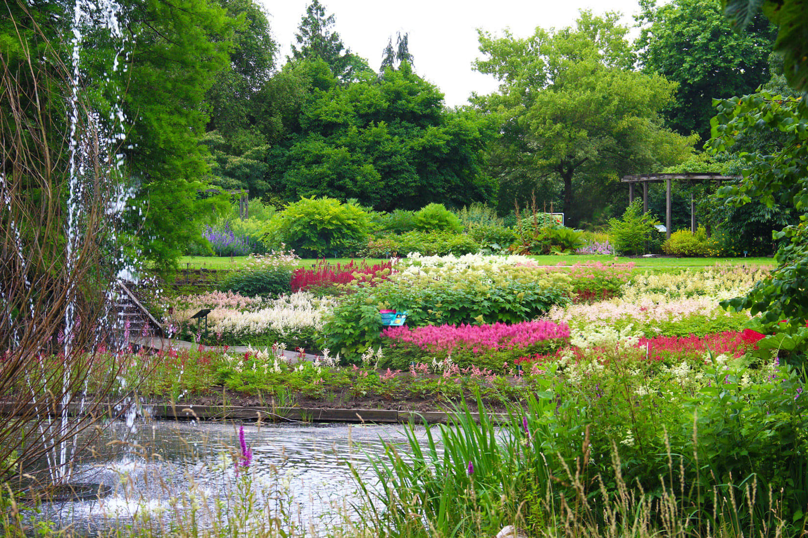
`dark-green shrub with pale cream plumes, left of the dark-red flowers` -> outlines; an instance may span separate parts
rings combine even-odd
[[[250,255],[242,269],[229,273],[221,283],[222,291],[252,297],[290,293],[292,268],[299,259],[293,253],[272,252],[267,256]]]

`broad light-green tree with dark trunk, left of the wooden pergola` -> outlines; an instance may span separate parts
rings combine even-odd
[[[576,204],[575,183],[608,195],[624,173],[673,164],[691,151],[692,139],[663,127],[660,115],[675,83],[632,69],[628,28],[617,19],[582,11],[575,27],[537,28],[526,39],[479,35],[487,57],[475,67],[500,81],[499,93],[478,105],[503,121],[492,157],[501,186],[524,169],[534,183],[561,181],[572,224],[587,213]]]

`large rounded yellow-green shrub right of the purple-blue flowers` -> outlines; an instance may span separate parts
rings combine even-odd
[[[303,256],[339,256],[349,240],[368,236],[368,214],[335,198],[301,198],[267,223],[267,246]]]

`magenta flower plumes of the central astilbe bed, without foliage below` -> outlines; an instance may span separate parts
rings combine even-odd
[[[413,344],[429,352],[452,352],[470,349],[473,352],[501,351],[527,348],[545,340],[570,337],[566,323],[526,321],[523,323],[494,323],[492,325],[441,325],[388,327],[382,336],[393,343]]]

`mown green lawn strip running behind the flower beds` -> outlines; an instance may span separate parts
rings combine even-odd
[[[576,254],[570,256],[530,256],[541,265],[574,265],[577,263],[587,263],[600,261],[609,263],[629,263],[633,262],[635,267],[712,267],[713,265],[775,265],[772,258],[749,257],[749,258],[627,258],[621,256],[600,256],[597,254]],[[232,258],[217,256],[183,256],[179,259],[179,269],[238,269],[246,261],[246,256],[234,256]],[[347,264],[351,258],[330,258],[330,263]],[[368,264],[381,263],[383,259],[368,258]],[[316,265],[318,260],[303,259],[300,267],[311,267]]]

